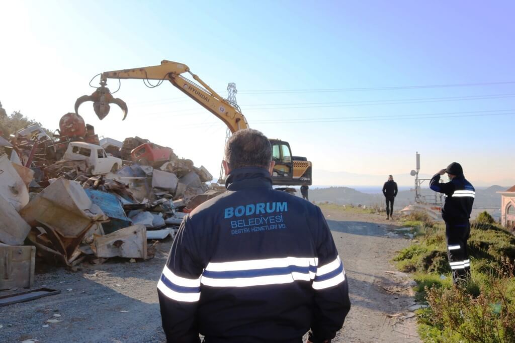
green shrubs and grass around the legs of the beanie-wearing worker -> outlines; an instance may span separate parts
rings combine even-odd
[[[430,305],[416,312],[421,339],[515,342],[515,237],[494,223],[475,221],[468,241],[472,277],[453,286],[444,226],[424,225],[419,242],[394,257],[401,270],[415,273],[415,299]]]

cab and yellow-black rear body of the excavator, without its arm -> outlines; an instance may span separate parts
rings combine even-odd
[[[311,162],[305,157],[291,155],[289,143],[280,139],[270,139],[272,146],[274,185],[311,185]]]

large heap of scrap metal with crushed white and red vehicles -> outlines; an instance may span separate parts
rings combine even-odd
[[[99,141],[74,113],[54,137],[30,125],[0,137],[0,252],[31,245],[43,261],[71,268],[147,259],[148,239],[174,237],[186,212],[221,192],[207,186],[212,178],[146,139]],[[24,286],[11,274],[0,289]]]

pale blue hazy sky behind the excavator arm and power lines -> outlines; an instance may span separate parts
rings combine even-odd
[[[0,101],[49,129],[101,71],[188,65],[250,126],[317,170],[407,174],[459,161],[515,184],[515,3],[510,1],[2,1]],[[94,81],[94,85],[97,84]],[[118,82],[111,80],[112,91]],[[430,86],[430,87],[421,87]],[[122,80],[100,136],[138,135],[218,175],[225,125],[170,83]],[[340,185],[349,185],[345,174]]]

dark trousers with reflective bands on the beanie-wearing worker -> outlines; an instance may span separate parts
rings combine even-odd
[[[470,223],[445,223],[447,237],[447,256],[452,269],[452,280],[459,283],[470,277],[470,259],[467,252],[467,240],[470,236]]]

